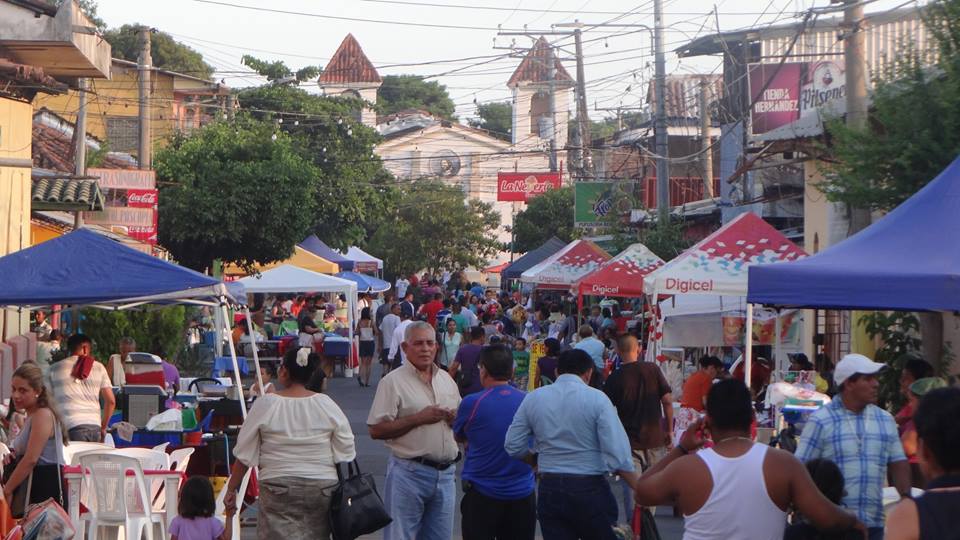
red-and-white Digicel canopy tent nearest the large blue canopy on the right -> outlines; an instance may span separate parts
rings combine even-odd
[[[651,302],[659,303],[664,296],[673,296],[674,302],[659,305],[658,324],[677,313],[719,313],[735,302],[745,305],[746,380],[750,380],[750,349],[752,346],[753,309],[746,303],[747,269],[753,264],[795,261],[807,253],[791,242],[780,231],[752,212],[740,214],[717,229],[677,258],[651,272],[643,279],[644,292]],[[662,338],[662,326],[651,332],[656,354]],[[779,343],[779,321],[777,342]]]

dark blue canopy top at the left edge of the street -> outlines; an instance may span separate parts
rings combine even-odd
[[[108,304],[226,293],[209,276],[87,229],[0,257],[0,305]]]

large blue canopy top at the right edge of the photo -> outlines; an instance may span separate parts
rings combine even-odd
[[[833,309],[960,310],[960,158],[879,221],[812,257],[750,267],[747,300]]]

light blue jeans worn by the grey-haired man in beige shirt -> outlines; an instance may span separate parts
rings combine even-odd
[[[450,540],[457,506],[457,468],[438,471],[390,456],[384,505],[393,522],[384,540]]]

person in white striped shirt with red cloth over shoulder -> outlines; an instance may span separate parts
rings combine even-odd
[[[91,349],[90,338],[74,334],[67,340],[71,356],[50,367],[50,389],[71,441],[102,442],[117,406],[107,368],[90,356]]]

